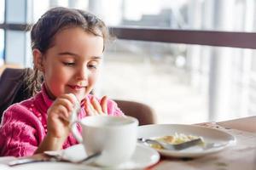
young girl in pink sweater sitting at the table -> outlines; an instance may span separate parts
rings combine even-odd
[[[32,85],[36,90],[42,73],[42,90],[4,112],[0,156],[31,156],[78,144],[68,126],[76,102],[81,105],[79,118],[123,115],[113,100],[90,95],[108,40],[102,20],[78,9],[52,8],[32,27],[31,38]]]

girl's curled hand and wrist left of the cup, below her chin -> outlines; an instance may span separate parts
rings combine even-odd
[[[47,121],[47,135],[58,139],[67,139],[69,133],[69,117],[77,99],[74,94],[63,94],[55,99],[49,107]]]

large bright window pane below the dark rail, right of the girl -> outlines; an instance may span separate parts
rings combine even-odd
[[[161,123],[221,121],[256,112],[252,49],[116,41],[105,57],[102,94],[147,103]]]

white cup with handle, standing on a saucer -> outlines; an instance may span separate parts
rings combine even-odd
[[[76,122],[82,127],[80,135]],[[131,116],[87,116],[73,121],[73,136],[84,144],[88,156],[101,152],[95,163],[113,167],[128,161],[137,145],[138,121]]]

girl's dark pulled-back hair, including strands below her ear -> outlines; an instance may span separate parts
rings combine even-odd
[[[56,33],[68,27],[80,27],[86,32],[102,37],[104,48],[108,43],[108,27],[96,15],[79,9],[57,7],[49,9],[32,26],[32,49],[38,48],[42,54],[45,54],[53,46]],[[27,82],[32,95],[38,93],[42,82],[42,74],[34,67],[33,74]]]

